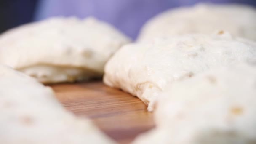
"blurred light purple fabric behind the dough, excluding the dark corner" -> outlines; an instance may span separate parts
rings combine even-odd
[[[157,13],[198,2],[256,5],[256,0],[41,0],[35,20],[51,16],[95,16],[135,39],[141,26]]]

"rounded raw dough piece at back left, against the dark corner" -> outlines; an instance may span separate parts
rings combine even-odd
[[[0,36],[0,64],[42,83],[101,77],[106,61],[129,39],[94,18],[51,18]]]

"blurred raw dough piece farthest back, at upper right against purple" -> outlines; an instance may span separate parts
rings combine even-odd
[[[216,30],[256,40],[256,9],[238,4],[175,8],[149,20],[141,30],[139,41],[188,33],[211,34]]]

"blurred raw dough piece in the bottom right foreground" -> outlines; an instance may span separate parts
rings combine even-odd
[[[256,144],[256,67],[215,69],[161,93],[156,128],[133,144]]]

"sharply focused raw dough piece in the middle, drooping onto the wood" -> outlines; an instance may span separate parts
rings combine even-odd
[[[138,96],[152,111],[158,93],[169,83],[213,67],[240,61],[256,63],[256,45],[237,40],[221,32],[125,45],[107,62],[104,83]]]

